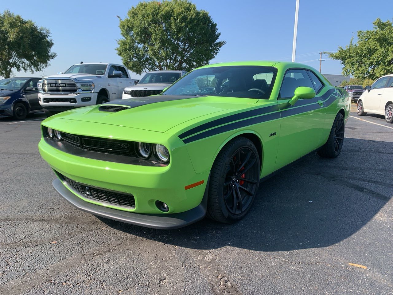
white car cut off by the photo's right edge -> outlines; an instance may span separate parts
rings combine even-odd
[[[365,89],[358,100],[358,115],[385,115],[386,122],[393,123],[393,74],[380,77]]]

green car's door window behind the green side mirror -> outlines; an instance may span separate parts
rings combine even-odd
[[[314,89],[309,75],[305,70],[288,70],[281,85],[279,98],[292,98],[295,89],[301,86]]]

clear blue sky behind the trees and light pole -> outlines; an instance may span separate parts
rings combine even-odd
[[[7,1],[1,9],[33,20],[51,31],[57,57],[45,76],[84,62],[121,63],[115,48],[119,20],[139,1]],[[296,0],[193,0],[218,24],[227,41],[213,62],[242,60],[290,61]],[[300,0],[296,61],[319,70],[320,51],[336,51],[358,30],[372,28],[377,18],[392,20],[391,0]],[[329,57],[324,56],[324,59]],[[341,74],[339,61],[323,61],[322,73]],[[16,73],[25,74],[25,73]],[[27,73],[28,76],[32,76]],[[41,76],[42,72],[35,73]],[[136,79],[139,76],[132,75]]]

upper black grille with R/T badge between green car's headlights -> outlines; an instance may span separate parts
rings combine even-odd
[[[65,142],[87,151],[138,157],[134,148],[134,142],[132,141],[82,136],[65,132],[61,132],[60,134]]]

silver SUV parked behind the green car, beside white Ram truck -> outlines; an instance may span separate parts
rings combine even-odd
[[[180,77],[187,74],[185,71],[152,71],[147,72],[137,85],[126,87],[123,91],[123,100],[127,98],[157,95],[173,84]]]

